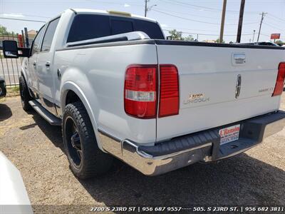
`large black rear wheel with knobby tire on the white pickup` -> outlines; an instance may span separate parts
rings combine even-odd
[[[108,172],[113,156],[98,148],[93,126],[83,103],[68,104],[63,112],[62,123],[63,143],[73,174],[86,179]]]

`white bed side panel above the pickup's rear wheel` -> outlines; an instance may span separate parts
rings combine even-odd
[[[124,110],[125,71],[130,64],[157,64],[155,45],[76,48],[56,51],[55,56],[55,67],[62,72],[61,87],[67,81],[76,82],[92,106],[100,130],[119,139],[153,143],[156,119],[133,118]],[[60,96],[56,91],[58,104]]]

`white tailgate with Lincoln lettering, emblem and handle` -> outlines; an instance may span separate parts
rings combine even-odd
[[[171,43],[171,42],[170,42]],[[177,66],[180,111],[157,118],[157,141],[279,109],[272,97],[283,49],[158,44],[160,64]]]

